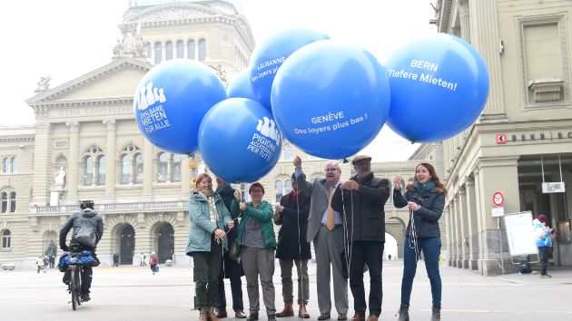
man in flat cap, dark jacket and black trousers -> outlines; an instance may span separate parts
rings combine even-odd
[[[350,289],[356,313],[352,320],[366,320],[363,269],[367,264],[370,268],[370,316],[367,320],[377,321],[383,297],[381,291],[381,259],[385,244],[383,207],[390,198],[390,180],[373,176],[370,156],[356,156],[351,163],[357,175],[340,185],[331,199],[331,207],[344,213],[348,226]]]

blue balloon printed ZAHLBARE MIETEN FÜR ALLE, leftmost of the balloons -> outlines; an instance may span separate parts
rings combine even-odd
[[[133,99],[135,121],[143,135],[164,151],[197,151],[202,117],[226,99],[221,80],[192,60],[171,60],[143,76]]]

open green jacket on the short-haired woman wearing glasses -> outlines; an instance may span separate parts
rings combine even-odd
[[[242,216],[238,237],[239,244],[242,244],[246,221],[252,218],[257,219],[262,224],[262,233],[264,234],[264,245],[266,248],[276,248],[276,234],[274,234],[274,226],[272,223],[273,210],[271,203],[262,200],[258,205],[258,209],[254,209],[251,202],[246,203],[246,206],[248,209],[246,209],[246,212],[242,212],[236,199],[232,199],[232,217],[237,218],[239,215]]]

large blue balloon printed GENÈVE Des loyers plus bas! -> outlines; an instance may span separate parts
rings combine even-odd
[[[390,85],[378,60],[360,47],[331,40],[293,53],[276,74],[271,94],[284,137],[328,159],[363,149],[390,110]]]

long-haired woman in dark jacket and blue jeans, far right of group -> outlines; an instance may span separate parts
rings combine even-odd
[[[439,275],[439,252],[441,248],[439,218],[443,213],[447,189],[439,180],[435,168],[420,163],[415,168],[413,183],[401,193],[401,178],[393,180],[393,205],[409,208],[409,224],[403,253],[403,278],[401,280],[401,306],[399,321],[409,321],[409,298],[420,252],[423,251],[425,268],[433,297],[431,321],[440,320],[441,277]]]

